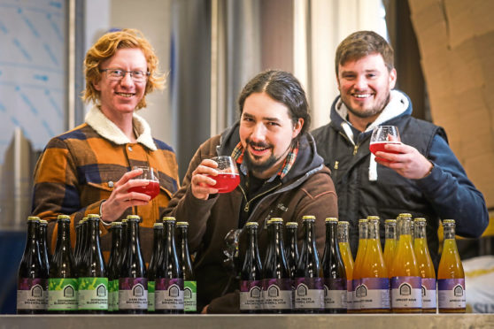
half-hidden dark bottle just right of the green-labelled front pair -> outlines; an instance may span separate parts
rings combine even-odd
[[[122,223],[112,222],[110,230],[112,231],[112,249],[110,250],[110,259],[108,259],[107,266],[108,311],[116,312],[119,310],[119,259],[122,253]]]

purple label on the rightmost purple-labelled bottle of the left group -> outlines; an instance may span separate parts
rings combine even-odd
[[[183,310],[183,279],[156,279],[156,310]]]

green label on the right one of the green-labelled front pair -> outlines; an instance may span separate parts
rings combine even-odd
[[[79,310],[108,310],[108,278],[79,278]]]

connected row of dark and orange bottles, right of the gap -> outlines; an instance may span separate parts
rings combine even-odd
[[[249,244],[241,272],[240,309],[244,313],[465,312],[465,276],[454,235],[445,219],[444,251],[437,273],[427,247],[425,218],[400,214],[386,221],[382,253],[379,218],[359,220],[355,264],[348,242],[348,222],[326,219],[326,243],[320,261],[313,216],[305,216],[304,242],[297,250],[297,223],[267,221],[269,244],[263,263],[257,247],[258,224],[247,223]],[[398,239],[397,239],[398,237]],[[437,288],[436,288],[437,287]],[[437,295],[437,297],[436,297]]]

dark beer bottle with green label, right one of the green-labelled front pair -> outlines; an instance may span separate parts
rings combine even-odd
[[[88,215],[88,249],[78,271],[80,313],[104,314],[108,310],[108,276],[100,247],[99,221],[99,215]]]

